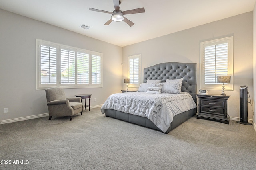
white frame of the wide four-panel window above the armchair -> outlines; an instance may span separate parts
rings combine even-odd
[[[46,45],[49,47],[56,48],[56,83],[54,84],[41,84],[41,45]],[[61,51],[70,50],[75,52],[75,82],[70,84],[63,84],[61,82]],[[84,53],[89,55],[89,82],[80,84],[78,83],[78,53]],[[100,57],[100,82],[97,84],[92,83],[92,55]],[[68,45],[53,43],[50,41],[44,41],[41,39],[36,39],[36,90],[44,90],[51,87],[61,87],[61,88],[102,88],[103,87],[103,53],[90,51],[86,49],[80,49],[76,47],[71,47]]]

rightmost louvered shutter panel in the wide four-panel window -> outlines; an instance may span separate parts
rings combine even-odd
[[[92,84],[101,84],[101,57],[92,55]]]

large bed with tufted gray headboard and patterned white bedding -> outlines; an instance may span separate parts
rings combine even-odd
[[[154,83],[156,80],[158,80],[158,82],[160,83]],[[166,109],[164,107],[166,107],[164,104],[162,104],[160,106],[160,104],[156,103],[154,101],[154,98],[159,98],[159,95],[163,95],[165,96],[165,98],[174,98],[174,100],[176,98],[178,98],[176,95],[177,94],[171,94],[168,95],[166,93],[161,93],[161,94],[155,94],[155,92],[153,92],[151,94],[148,92],[141,92],[141,87],[142,85],[148,84],[150,82],[152,82],[152,84],[157,84],[156,86],[159,86],[158,84],[166,84],[170,81],[182,81],[180,82],[180,94],[183,97],[182,100],[186,97],[186,98],[190,98],[190,99],[186,99],[183,100],[187,101],[187,100],[192,100],[192,102],[194,104],[186,104],[184,103],[184,106],[186,105],[190,105],[187,108],[190,108],[188,110],[184,110],[183,106],[182,107],[178,107],[180,108],[180,110],[182,110],[181,113],[175,113],[172,115],[172,118],[168,118],[170,113],[165,113],[168,115],[168,117],[166,118],[166,116],[164,115],[164,112],[169,112],[169,109]],[[148,83],[147,83],[148,82]],[[165,83],[166,82],[166,83]],[[197,64],[196,63],[178,63],[178,62],[168,62],[168,63],[160,63],[160,64],[156,64],[154,66],[150,66],[147,68],[144,68],[144,78],[143,78],[143,83],[141,84],[139,90],[140,92],[127,92],[127,93],[120,93],[120,94],[113,94],[110,95],[110,97],[112,96],[115,98],[118,98],[118,96],[120,97],[117,101],[112,101],[111,103],[111,99],[110,97],[106,100],[106,102],[104,102],[104,104],[102,105],[101,111],[102,114],[105,114],[107,117],[113,117],[116,119],[120,119],[123,121],[127,121],[130,123],[135,123],[137,125],[142,125],[144,127],[149,127],[151,129],[156,129],[158,131],[162,131],[163,133],[169,133],[172,129],[174,129],[175,127],[177,127],[178,125],[180,125],[181,123],[183,123],[184,121],[186,121],[187,119],[189,119],[190,117],[192,117],[193,115],[196,114],[196,84],[197,84]],[[163,85],[164,87],[164,85]],[[154,87],[154,89],[151,89],[153,91],[155,91],[155,89],[159,89],[158,87]],[[137,101],[136,104],[128,104],[131,101],[134,101],[135,96],[140,96],[140,94],[144,93],[144,97],[141,98],[145,98],[145,100],[148,100],[148,102],[144,101],[144,102],[140,102]],[[156,92],[157,93],[157,92]],[[168,95],[168,96],[167,96]],[[170,96],[170,97],[169,97]],[[174,96],[174,97],[172,97]],[[152,98],[151,98],[152,97]],[[179,97],[180,98],[180,97]],[[130,101],[122,101],[122,100],[130,100]],[[137,100],[137,99],[136,99]],[[163,100],[162,100],[163,101]],[[122,106],[124,107],[120,107],[121,105],[117,105],[116,103],[120,103],[122,104]],[[148,109],[145,109],[144,111],[142,111],[142,107],[145,107],[144,105],[146,105],[146,103],[148,104]],[[166,103],[166,102],[165,102]],[[143,104],[143,106],[142,106]],[[110,106],[114,106],[115,107],[110,107]],[[135,109],[131,109],[131,106],[127,106],[127,105],[137,105],[140,108],[135,108]],[[151,106],[152,105],[152,106]],[[154,109],[150,109],[149,107],[153,107],[154,105]],[[191,106],[193,105],[193,106]],[[161,109],[159,109],[159,106],[161,107]],[[168,106],[169,106],[169,102],[168,102]],[[178,105],[180,106],[180,105]],[[128,109],[125,107],[128,107]],[[162,109],[164,108],[164,109]],[[160,119],[162,119],[161,121],[166,121],[166,119],[168,119],[168,122],[165,122],[165,125],[159,125],[158,124],[158,120],[154,121],[153,119],[156,118],[156,114],[154,113],[154,111],[157,110],[158,111],[158,115],[160,116],[164,116]],[[160,110],[160,111],[159,111]],[[136,112],[137,114],[135,114],[134,112]],[[139,113],[139,112],[143,112],[143,113]],[[152,113],[150,113],[152,112]],[[160,117],[158,116],[158,117]],[[170,119],[170,120],[169,120]],[[164,127],[162,127],[164,126]]]

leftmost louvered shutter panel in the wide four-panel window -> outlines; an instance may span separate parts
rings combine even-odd
[[[41,84],[57,84],[57,49],[40,45]]]

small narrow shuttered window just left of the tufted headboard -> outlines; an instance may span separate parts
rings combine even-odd
[[[140,54],[128,57],[128,77],[130,84],[140,85]]]

